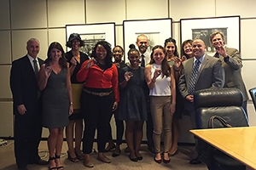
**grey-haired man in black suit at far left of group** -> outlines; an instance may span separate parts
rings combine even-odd
[[[26,170],[28,164],[48,164],[38,156],[42,134],[38,69],[44,63],[38,58],[39,48],[36,38],[28,40],[26,56],[13,61],[10,72],[15,115],[15,158],[19,170]]]

